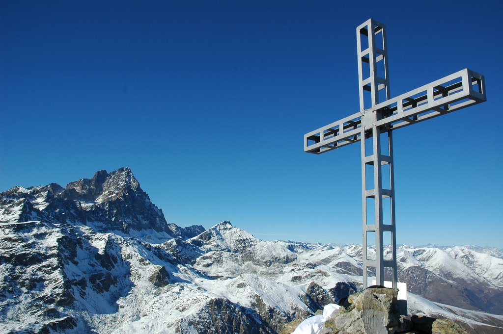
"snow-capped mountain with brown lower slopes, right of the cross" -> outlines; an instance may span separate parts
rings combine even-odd
[[[503,259],[467,247],[402,246],[398,273],[408,289],[433,301],[503,314]]]

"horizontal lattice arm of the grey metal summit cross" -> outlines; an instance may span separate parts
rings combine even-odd
[[[467,68],[304,135],[304,152],[321,154],[361,140],[362,117],[378,111],[386,131],[484,102],[485,79]],[[364,125],[373,126],[374,124]],[[366,130],[366,129],[365,129]]]

